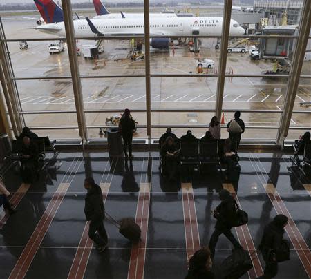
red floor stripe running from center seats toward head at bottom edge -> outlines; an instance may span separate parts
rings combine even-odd
[[[200,249],[200,236],[194,204],[194,191],[191,183],[182,183],[182,209],[184,213],[187,260]]]

